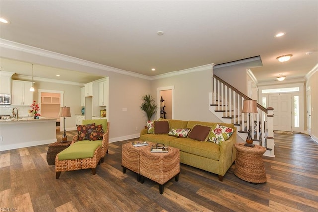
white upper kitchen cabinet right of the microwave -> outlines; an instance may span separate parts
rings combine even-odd
[[[30,106],[33,103],[32,82],[12,80],[12,105]]]

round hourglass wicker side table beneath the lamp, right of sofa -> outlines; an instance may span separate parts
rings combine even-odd
[[[259,145],[248,147],[244,144],[234,144],[237,150],[234,174],[247,182],[265,183],[267,179],[262,156],[266,148]]]

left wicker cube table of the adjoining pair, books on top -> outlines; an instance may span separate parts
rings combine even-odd
[[[138,141],[136,141],[138,142]],[[155,143],[147,142],[149,146],[156,145]],[[132,143],[126,143],[122,145],[121,150],[121,166],[123,167],[123,173],[126,173],[126,170],[129,169],[137,173],[137,181],[140,181],[139,175],[139,152],[143,148],[149,146],[138,146],[135,147]]]

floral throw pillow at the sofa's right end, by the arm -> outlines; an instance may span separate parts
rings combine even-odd
[[[209,134],[208,141],[221,145],[223,141],[226,141],[230,138],[233,132],[234,132],[233,128],[216,124],[212,127],[212,130]]]

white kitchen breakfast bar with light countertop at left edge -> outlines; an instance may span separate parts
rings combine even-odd
[[[56,118],[0,120],[0,151],[56,142]]]

